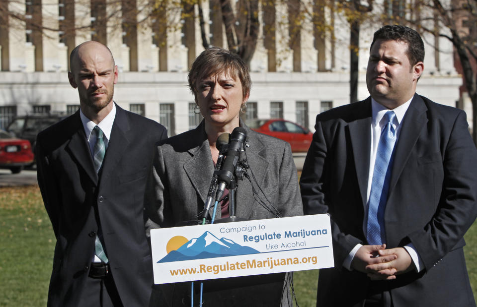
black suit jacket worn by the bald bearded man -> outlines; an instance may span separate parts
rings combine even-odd
[[[116,106],[98,178],[79,111],[38,134],[38,184],[57,239],[49,306],[79,304],[99,222],[121,301],[147,306],[153,278],[144,191],[154,145],[166,137],[159,123]]]

